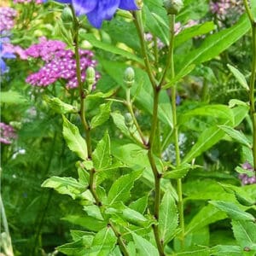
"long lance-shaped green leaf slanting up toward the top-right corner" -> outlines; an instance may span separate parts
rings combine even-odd
[[[229,48],[231,44],[234,44],[249,29],[250,23],[247,16],[242,15],[235,26],[223,29],[220,32],[207,37],[199,48],[184,56],[183,61],[181,61],[179,66],[184,69],[193,63],[199,64],[211,60],[225,49]],[[176,58],[180,58],[180,56],[176,56]]]

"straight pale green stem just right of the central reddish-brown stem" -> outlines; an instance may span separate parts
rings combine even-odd
[[[173,61],[173,42],[174,42],[174,25],[175,25],[175,15],[171,15],[170,17],[170,30],[171,30],[171,38],[169,45],[169,56],[170,60],[167,61],[167,65],[171,67],[170,78],[173,79],[175,77],[174,73],[174,61]],[[166,72],[161,79],[161,84],[164,83],[164,79],[166,76]],[[172,93],[172,123],[173,123],[173,136],[174,136],[174,145],[175,145],[175,154],[176,154],[176,166],[181,164],[180,160],[180,150],[178,145],[178,125],[177,125],[177,108],[176,108],[176,96],[177,96],[177,85],[173,84],[171,88]],[[182,179],[177,179],[177,209],[179,215],[179,225],[181,230],[181,245],[183,247],[184,241],[184,216],[183,216],[183,187],[182,187]]]

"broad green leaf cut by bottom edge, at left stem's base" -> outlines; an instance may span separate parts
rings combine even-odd
[[[116,241],[117,238],[110,227],[100,230],[92,241],[89,256],[108,256]]]

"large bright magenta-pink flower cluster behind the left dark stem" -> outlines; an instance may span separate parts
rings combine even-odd
[[[67,81],[68,89],[77,87],[74,53],[70,49],[65,49],[66,46],[61,41],[40,38],[39,44],[33,44],[26,49],[27,57],[38,58],[45,62],[44,67],[41,67],[37,73],[32,73],[27,77],[26,83],[45,87],[55,83],[58,79],[64,79]],[[90,50],[80,49],[79,54],[82,81],[84,82],[87,67],[95,67],[96,61],[92,60],[94,55]],[[96,79],[99,79],[99,74],[96,74]]]

